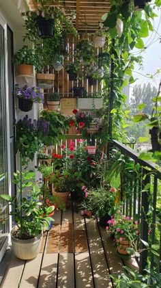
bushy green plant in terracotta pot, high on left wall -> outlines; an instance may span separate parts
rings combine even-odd
[[[16,65],[16,76],[33,76],[33,66],[35,66],[35,52],[28,46],[23,46],[19,49],[12,58],[13,63]]]

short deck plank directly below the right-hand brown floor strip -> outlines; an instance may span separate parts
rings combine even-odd
[[[75,254],[76,288],[93,288],[89,252]]]

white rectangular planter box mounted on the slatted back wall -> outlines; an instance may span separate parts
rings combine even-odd
[[[102,98],[78,98],[78,109],[101,109],[103,105]]]

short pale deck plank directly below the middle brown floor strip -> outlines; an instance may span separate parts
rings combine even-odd
[[[74,288],[73,253],[59,253],[58,288]]]

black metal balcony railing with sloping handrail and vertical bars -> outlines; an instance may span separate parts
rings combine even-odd
[[[138,153],[132,148],[121,144],[117,140],[113,140],[113,145],[123,155],[133,159],[134,165],[138,167],[138,173],[136,171],[133,172],[133,179],[132,177],[129,177],[130,180],[128,179],[128,171],[126,171],[126,179],[124,181],[131,181],[130,187],[132,191],[130,198],[125,197],[123,200],[123,213],[130,217],[137,216],[141,226],[140,237],[149,244],[150,249],[140,241],[142,252],[138,259],[139,272],[143,274],[147,261],[151,263],[152,268],[155,266],[158,272],[161,272],[161,200],[159,199],[161,193],[161,172],[155,163],[139,159]],[[149,221],[149,218],[151,221]],[[151,252],[153,245],[157,245],[159,257]]]

